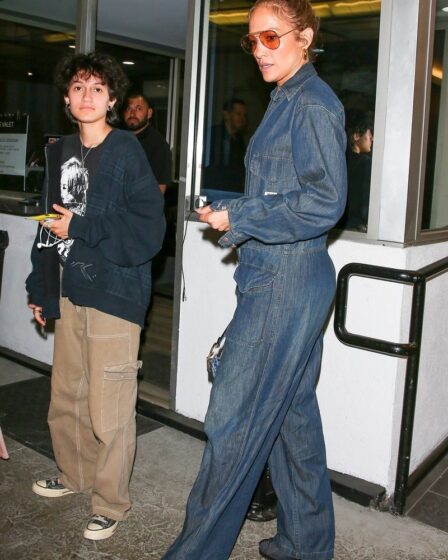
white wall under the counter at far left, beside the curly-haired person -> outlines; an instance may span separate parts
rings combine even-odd
[[[0,214],[0,229],[6,230],[9,235],[0,299],[0,346],[51,364],[53,334],[44,333],[36,327],[27,307],[25,291],[25,279],[31,271],[30,252],[36,222]]]

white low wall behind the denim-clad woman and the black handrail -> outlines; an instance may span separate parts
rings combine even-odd
[[[190,223],[184,243],[187,300],[181,303],[180,311],[176,392],[176,410],[198,420],[205,416],[210,392],[205,356],[235,306],[235,263],[229,259],[232,253],[204,238],[205,230],[202,224]],[[330,244],[330,254],[337,271],[349,262],[417,269],[441,258],[447,246],[402,249],[339,239]],[[427,290],[412,468],[448,435],[447,384],[442,383],[447,360],[443,346],[435,342],[447,331],[443,325],[448,310],[446,284],[448,276],[433,280]],[[395,342],[408,341],[409,287],[354,277],[349,293],[349,331]],[[331,469],[375,482],[392,492],[405,368],[403,358],[340,343],[331,317],[318,386]]]

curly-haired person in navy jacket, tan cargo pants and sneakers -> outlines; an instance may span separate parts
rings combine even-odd
[[[137,359],[162,246],[163,196],[135,136],[113,128],[128,82],[106,54],[56,69],[78,132],[46,147],[41,222],[26,281],[29,307],[56,319],[48,424],[59,473],[37,480],[46,498],[91,492],[84,537],[110,537],[129,514],[135,457]]]

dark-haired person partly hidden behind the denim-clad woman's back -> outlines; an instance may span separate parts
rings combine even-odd
[[[369,114],[347,112],[347,206],[337,226],[367,231],[372,175],[373,125]]]

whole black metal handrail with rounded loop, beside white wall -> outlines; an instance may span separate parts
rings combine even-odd
[[[447,270],[448,258],[445,258],[419,270],[400,270],[383,266],[350,263],[345,265],[338,274],[334,317],[334,330],[338,339],[344,344],[354,346],[355,348],[407,358],[395,491],[391,506],[391,511],[399,515],[402,515],[404,512],[409,481],[426,282]],[[352,276],[362,276],[374,280],[386,280],[413,286],[409,341],[407,343],[390,342],[347,331],[345,320],[347,317],[348,286]]]

